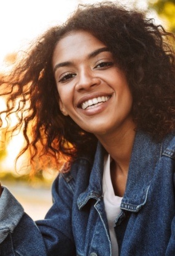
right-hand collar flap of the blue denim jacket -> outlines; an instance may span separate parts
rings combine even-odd
[[[157,161],[161,157],[162,144],[152,141],[148,134],[138,132],[134,139],[126,190],[121,208],[138,212],[146,204],[150,181]]]

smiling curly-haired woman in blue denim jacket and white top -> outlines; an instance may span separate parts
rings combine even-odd
[[[1,255],[174,255],[171,36],[138,11],[79,7],[2,79],[7,115],[29,104],[16,128],[31,161],[68,160],[45,220],[1,189]]]

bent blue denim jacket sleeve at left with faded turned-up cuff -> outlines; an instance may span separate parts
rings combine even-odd
[[[63,178],[56,178],[52,195],[53,206],[44,220],[35,223],[4,188],[0,199],[1,256],[76,255],[71,228],[72,193]]]

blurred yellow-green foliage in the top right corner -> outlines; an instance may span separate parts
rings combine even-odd
[[[166,20],[169,31],[175,33],[175,0],[148,0],[150,9],[155,9]]]

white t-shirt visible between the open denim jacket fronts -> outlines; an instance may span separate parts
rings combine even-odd
[[[111,181],[110,172],[110,155],[106,155],[104,158],[104,173],[103,173],[103,197],[104,197],[104,207],[107,215],[107,222],[109,225],[109,233],[111,236],[111,246],[112,246],[112,256],[119,255],[119,247],[117,244],[117,238],[115,236],[114,225],[115,219],[121,213],[120,204],[122,197],[115,196],[114,188]]]

